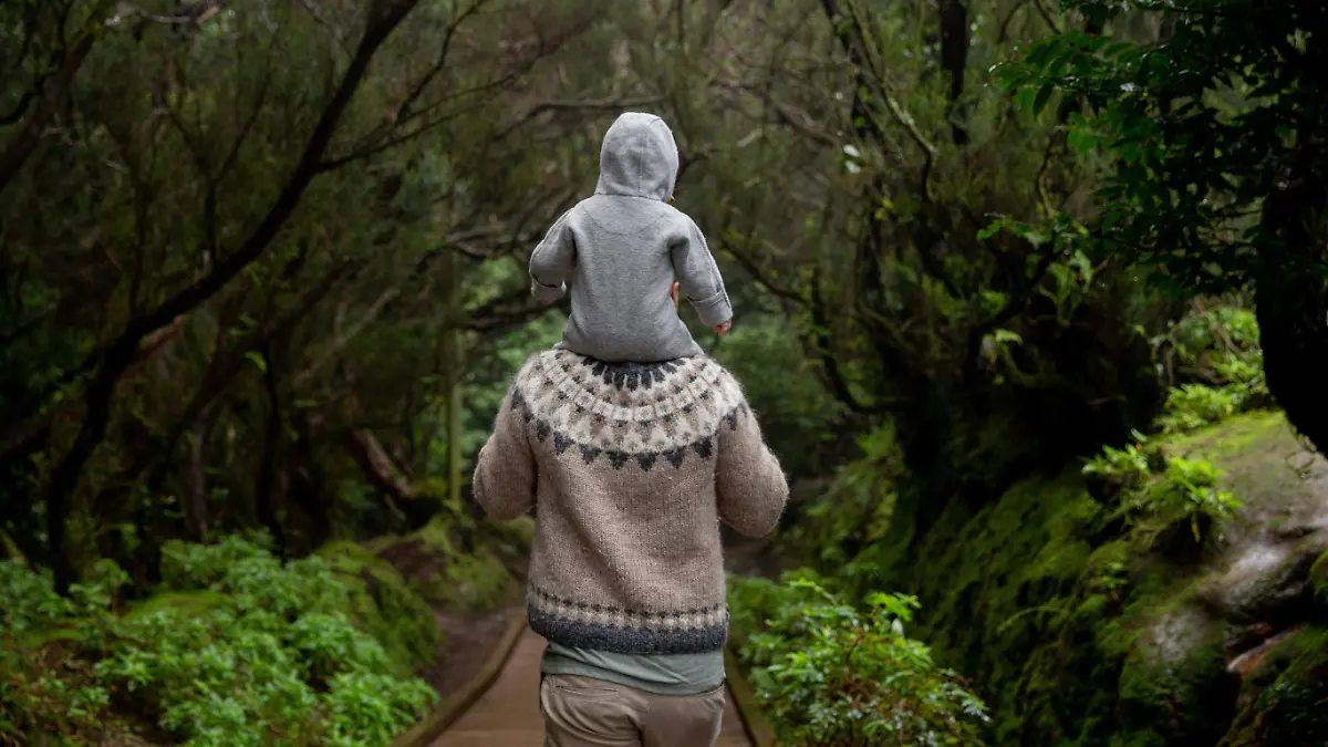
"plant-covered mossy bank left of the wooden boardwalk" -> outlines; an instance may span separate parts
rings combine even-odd
[[[0,564],[0,742],[385,746],[438,699],[418,678],[436,614],[510,602],[527,534],[438,518],[292,561],[262,537],[170,544],[137,602],[109,561],[70,598]]]

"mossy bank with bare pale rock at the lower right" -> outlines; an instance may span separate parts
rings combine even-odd
[[[1077,469],[952,502],[908,573],[916,635],[995,744],[1328,744],[1328,464],[1264,411],[1155,447],[1242,508],[1143,532]]]

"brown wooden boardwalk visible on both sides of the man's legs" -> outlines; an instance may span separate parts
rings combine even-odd
[[[527,629],[498,679],[433,742],[433,747],[543,747],[544,719],[539,715],[543,653],[544,639]],[[717,747],[752,747],[732,694]]]

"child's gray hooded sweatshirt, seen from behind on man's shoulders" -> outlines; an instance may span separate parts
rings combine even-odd
[[[667,201],[677,145],[664,120],[628,112],[604,133],[599,185],[563,214],[530,255],[531,292],[544,303],[572,294],[556,346],[610,363],[701,355],[677,315],[677,280],[701,322],[733,318],[705,237]]]

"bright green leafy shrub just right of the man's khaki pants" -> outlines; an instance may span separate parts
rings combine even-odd
[[[734,581],[730,599],[736,617],[764,618],[740,659],[789,744],[979,744],[985,706],[904,634],[915,598],[874,593],[857,607],[802,573]]]

